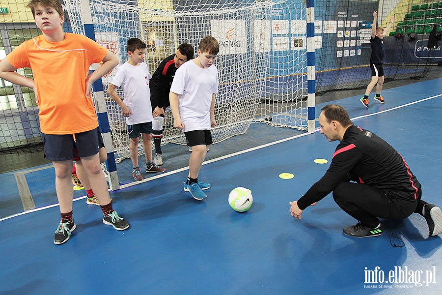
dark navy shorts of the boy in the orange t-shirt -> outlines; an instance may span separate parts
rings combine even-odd
[[[77,156],[93,156],[100,150],[97,133],[100,134],[98,127],[90,131],[76,133],[75,138],[72,134],[42,133],[45,157],[51,161],[67,161]]]

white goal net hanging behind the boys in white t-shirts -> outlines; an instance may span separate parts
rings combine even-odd
[[[74,33],[84,34],[82,5],[64,0]],[[147,44],[151,74],[181,43],[193,45],[214,36],[220,43],[212,129],[214,143],[243,134],[253,121],[305,130],[307,127],[307,60],[305,6],[287,0],[91,0],[96,41],[127,60],[126,42]],[[103,78],[104,89],[113,73]],[[118,93],[120,97],[123,93]],[[107,94],[105,94],[107,95]],[[129,157],[129,138],[121,109],[106,96],[116,162]],[[184,145],[181,130],[166,111],[162,144]],[[141,143],[140,143],[141,145]],[[140,152],[142,147],[140,146]]]

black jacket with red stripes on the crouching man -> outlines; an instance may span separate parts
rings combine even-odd
[[[299,199],[298,207],[304,210],[340,182],[350,180],[394,191],[395,197],[409,201],[415,200],[421,189],[400,153],[376,134],[352,125],[336,147],[326,174]]]

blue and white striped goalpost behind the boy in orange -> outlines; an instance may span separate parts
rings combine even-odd
[[[95,41],[94,24],[92,23],[92,13],[90,11],[89,0],[81,0],[81,10],[83,18],[83,28],[86,37]],[[92,73],[98,68],[98,64],[93,64],[89,68]],[[97,111],[98,124],[100,125],[100,132],[103,135],[103,142],[108,152],[108,160],[106,161],[106,168],[109,172],[109,186],[111,190],[120,188],[118,182],[118,174],[115,164],[115,156],[113,154],[111,127],[109,125],[108,110],[106,108],[106,101],[104,96],[103,82],[100,79],[92,85],[93,95],[95,99],[95,109]]]

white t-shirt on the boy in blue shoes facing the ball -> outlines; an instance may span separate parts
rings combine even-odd
[[[175,73],[170,91],[179,94],[179,111],[184,131],[210,130],[210,105],[218,92],[215,65],[203,69],[193,60],[183,63]]]

